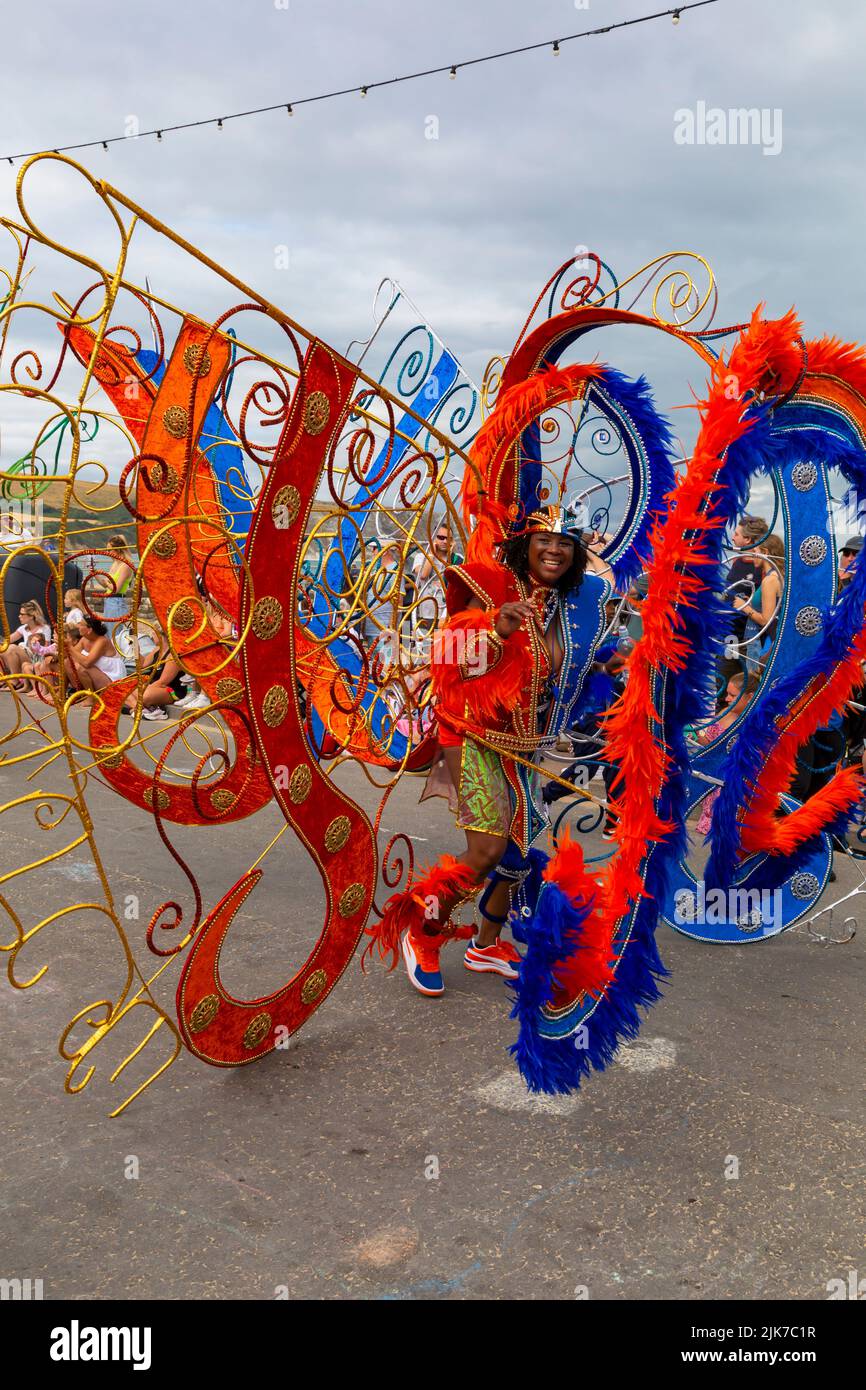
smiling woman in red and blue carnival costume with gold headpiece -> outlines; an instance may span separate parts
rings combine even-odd
[[[587,573],[577,523],[542,507],[498,555],[446,569],[448,623],[436,634],[432,681],[439,742],[457,792],[459,856],[445,855],[368,927],[391,966],[403,955],[410,983],[443,992],[439,952],[471,927],[452,912],[487,883],[481,924],[464,965],[517,979],[521,956],[502,929],[528,874],[528,851],[546,827],[538,758],[575,714],[605,631],[607,582]]]

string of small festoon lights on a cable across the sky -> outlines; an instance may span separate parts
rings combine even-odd
[[[314,101],[334,101],[336,97],[343,96],[361,96],[366,97],[370,92],[375,92],[378,88],[396,86],[399,82],[417,82],[421,78],[436,76],[438,74],[448,72],[449,78],[456,78],[457,72],[463,68],[474,68],[481,63],[498,63],[502,58],[513,58],[520,53],[537,53],[539,49],[548,49],[555,57],[562,51],[563,44],[574,43],[577,39],[592,39],[602,33],[613,33],[614,29],[628,29],[638,24],[651,24],[653,19],[673,19],[674,24],[680,22],[680,17],[688,10],[703,10],[709,4],[719,4],[719,0],[692,0],[691,4],[680,4],[671,7],[670,10],[659,10],[655,14],[637,15],[634,19],[617,19],[612,24],[599,25],[596,29],[581,29],[580,33],[566,33],[560,39],[545,39],[541,43],[524,43],[518,49],[503,49],[499,53],[485,53],[478,58],[466,58],[463,63],[445,63],[438,68],[424,68],[420,72],[406,72],[399,78],[384,78],[379,82],[363,82],[352,88],[339,88],[335,92],[320,92],[318,96],[304,96],[297,97],[292,101],[277,101],[274,106],[259,106],[249,111],[232,111],[229,115],[210,115],[200,121],[181,121],[177,125],[163,125],[154,126],[152,131],[136,131],[135,133],[126,135],[107,135],[100,140],[82,140],[78,145],[57,145],[44,146],[42,150],[29,150],[28,153],[19,154],[3,154],[0,161],[6,160],[7,164],[14,164],[15,160],[31,158],[32,154],[43,154],[46,152],[54,154],[68,154],[71,150],[92,150],[101,146],[107,150],[110,145],[122,145],[126,140],[143,140],[153,136],[156,140],[161,140],[164,135],[172,135],[175,131],[193,131],[199,126],[213,125],[217,131],[221,131],[228,121],[243,121],[252,115],[264,115],[270,111],[285,111],[288,115],[295,114],[295,108],[300,106],[311,106]]]

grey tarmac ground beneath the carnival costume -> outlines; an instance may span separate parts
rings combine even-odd
[[[0,695],[0,731],[11,710]],[[161,746],[164,726],[146,728]],[[346,785],[373,805],[357,770]],[[61,787],[60,764],[31,784],[0,769],[3,802]],[[406,778],[384,826],[418,837],[427,862],[456,841],[445,803],[417,794]],[[138,958],[156,965],[146,922],[167,898],[189,917],[189,883],[145,813],[96,783],[89,805],[118,899],[140,902]],[[172,831],[204,910],[279,824],[268,808]],[[32,810],[7,812],[0,833],[3,873],[61,842]],[[222,955],[245,997],[289,979],[322,917],[289,834],[265,866]],[[859,881],[838,855],[837,873],[830,892]],[[3,891],[26,926],[97,888],[83,847]],[[183,1054],[110,1120],[167,1044],[113,1086],[124,1051],[108,1038],[90,1084],[65,1095],[60,1033],[114,998],[122,970],[93,913],[46,927],[18,974],[47,974],[26,991],[0,977],[0,1276],[42,1279],[46,1298],[826,1300],[830,1280],[866,1276],[866,930],[848,945],[798,929],[720,948],[662,927],[660,947],[664,999],[575,1097],[525,1093],[509,991],[449,947],[442,999],[402,970],[363,976],[356,958],[288,1049],[225,1070]],[[163,1001],[175,981],[177,962]],[[136,1012],[128,1045],[145,1033]]]

